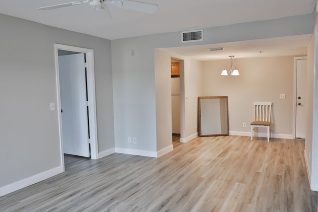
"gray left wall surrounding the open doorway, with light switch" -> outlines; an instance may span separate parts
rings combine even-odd
[[[0,14],[0,187],[61,166],[54,43],[94,50],[99,151],[114,147],[109,40]]]

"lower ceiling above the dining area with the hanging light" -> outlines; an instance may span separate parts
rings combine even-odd
[[[312,35],[269,38],[210,45],[164,48],[180,56],[200,61],[226,60],[230,55],[239,58],[279,57],[307,55],[307,46]],[[210,51],[210,48],[222,47],[224,50]]]

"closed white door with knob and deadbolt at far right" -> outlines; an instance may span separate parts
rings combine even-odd
[[[307,59],[296,59],[296,133],[298,139],[306,135],[306,77]]]

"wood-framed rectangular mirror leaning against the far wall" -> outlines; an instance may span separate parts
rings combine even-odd
[[[227,96],[198,97],[198,135],[229,135],[229,112]]]

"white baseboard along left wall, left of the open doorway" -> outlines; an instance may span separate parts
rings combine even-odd
[[[33,175],[31,177],[19,180],[17,182],[5,185],[0,188],[0,197],[9,194],[11,192],[17,191],[19,189],[22,189],[24,187],[30,186],[32,184],[38,183],[42,180],[45,180],[47,178],[53,177],[54,175],[60,174],[63,172],[63,167],[58,166],[56,168],[44,171],[42,173]]]

